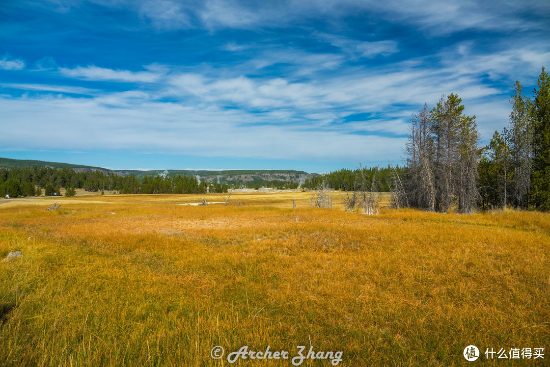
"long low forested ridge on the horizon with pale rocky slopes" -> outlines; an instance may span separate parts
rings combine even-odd
[[[318,176],[316,173],[307,173],[304,171],[294,171],[292,169],[235,169],[227,171],[190,171],[186,169],[156,169],[152,171],[138,171],[135,169],[111,169],[84,165],[72,165],[70,163],[45,162],[35,160],[15,160],[9,158],[0,158],[0,167],[38,167],[38,168],[69,168],[76,172],[101,171],[105,174],[118,174],[119,176],[135,176],[142,179],[145,176],[181,176],[197,177],[206,182],[217,182],[220,184],[261,184],[265,181],[287,181],[304,182],[305,179]]]

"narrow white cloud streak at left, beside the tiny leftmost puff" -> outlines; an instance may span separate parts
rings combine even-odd
[[[114,80],[128,83],[154,83],[161,76],[158,72],[131,72],[129,70],[100,68],[94,65],[74,69],[60,68],[59,73],[69,78],[98,81]]]

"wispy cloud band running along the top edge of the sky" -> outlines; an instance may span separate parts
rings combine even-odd
[[[475,0],[283,0],[247,1],[150,0],[136,3],[140,12],[156,26],[166,29],[188,29],[206,26],[210,29],[252,29],[261,26],[288,26],[304,18],[341,18],[368,14],[369,18],[414,24],[429,32],[456,32],[467,29],[511,30],[532,29],[544,23],[550,13],[544,1],[480,2]],[[523,14],[540,17],[525,21]]]

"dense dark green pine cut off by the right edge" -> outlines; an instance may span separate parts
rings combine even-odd
[[[550,210],[550,78],[542,68],[533,101],[533,174],[531,200],[537,209]]]

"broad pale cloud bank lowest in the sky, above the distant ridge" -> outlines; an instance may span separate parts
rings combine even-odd
[[[126,97],[112,96],[113,100]],[[125,149],[211,157],[364,160],[368,156],[383,160],[382,147],[399,149],[403,143],[400,138],[334,130],[312,132],[292,125],[244,126],[241,123],[251,117],[245,111],[182,106],[147,98],[124,108],[110,108],[99,98],[0,98],[0,108],[5,111],[3,121],[13,125],[0,137],[6,149],[30,144],[34,149],[62,145],[66,149]],[[17,124],[21,119],[28,123]],[[268,117],[256,117],[256,122],[262,120],[270,122]],[[64,133],[59,135],[59,131]]]

